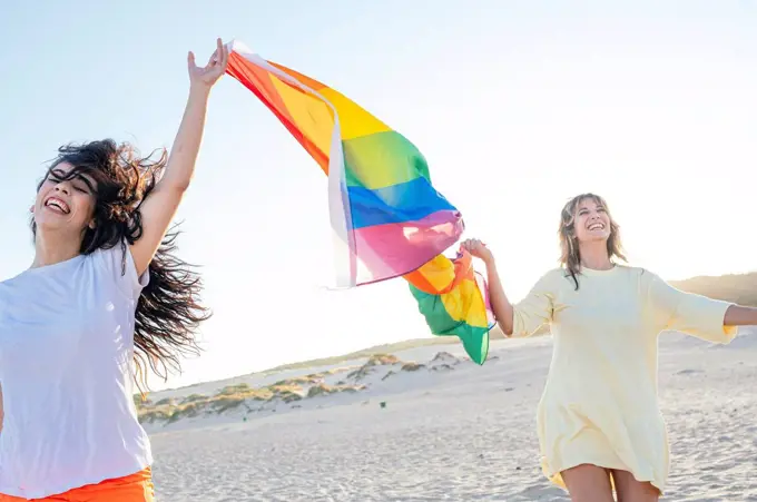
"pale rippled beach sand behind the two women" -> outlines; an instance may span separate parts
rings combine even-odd
[[[146,424],[158,501],[568,501],[538,464],[534,416],[551,337],[498,341],[481,367],[456,344],[395,355],[429,364],[440,351],[449,354],[435,368],[374,366],[354,393]],[[363,363],[323,381],[345,381]],[[254,375],[150,398],[212,394],[239,382],[269,385],[326,370]],[[727,346],[661,336],[660,401],[672,455],[662,500],[757,501],[756,386],[754,331],[743,329]]]

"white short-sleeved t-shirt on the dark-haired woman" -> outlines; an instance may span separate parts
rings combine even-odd
[[[43,498],[153,463],[132,397],[149,275],[126,255],[124,275],[118,244],[0,283],[0,493]]]

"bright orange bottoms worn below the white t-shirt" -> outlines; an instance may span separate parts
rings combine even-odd
[[[0,493],[0,502],[154,502],[155,488],[150,467],[115,480],[75,488],[45,499],[21,499]]]

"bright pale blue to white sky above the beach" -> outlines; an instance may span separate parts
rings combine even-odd
[[[108,136],[170,147],[186,52],[205,61],[218,36],[410,138],[466,235],[494,248],[511,299],[556,265],[559,210],[589,190],[633,264],[669,279],[755,267],[754,1],[108,3],[3,2],[0,279],[32,260],[28,207],[56,148]],[[215,317],[206,352],[168,385],[427,335],[401,279],[324,289],[326,204],[315,163],[222,79],[179,214]]]

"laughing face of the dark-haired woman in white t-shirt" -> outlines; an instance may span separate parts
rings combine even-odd
[[[87,175],[72,171],[70,164],[58,164],[37,191],[33,213],[38,230],[83,236],[88,227],[94,227],[96,184]]]

